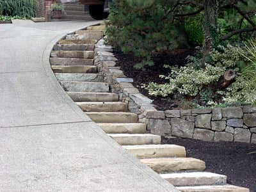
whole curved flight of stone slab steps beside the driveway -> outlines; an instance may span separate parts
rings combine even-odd
[[[186,157],[184,147],[161,145],[161,136],[147,134],[146,125],[118,101],[118,94],[109,93],[93,65],[94,45],[104,33],[103,24],[90,26],[67,35],[52,49],[52,70],[74,102],[113,140],[180,191],[248,192],[228,185],[225,175],[204,172],[204,161]]]

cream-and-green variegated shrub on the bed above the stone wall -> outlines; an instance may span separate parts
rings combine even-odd
[[[150,95],[161,95],[166,97],[169,94],[179,92],[183,95],[195,96],[200,90],[219,81],[228,68],[234,68],[241,60],[243,52],[239,47],[219,45],[217,49],[210,52],[211,63],[205,63],[202,68],[202,59],[189,56],[189,63],[185,67],[172,67],[169,76],[160,76],[169,79],[170,83],[143,84],[142,88],[148,90]],[[235,68],[238,71],[238,68]]]

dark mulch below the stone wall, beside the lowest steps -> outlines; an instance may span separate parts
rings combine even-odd
[[[256,191],[256,144],[162,137],[162,144],[184,146],[188,157],[205,161],[206,171],[227,175],[228,184]]]

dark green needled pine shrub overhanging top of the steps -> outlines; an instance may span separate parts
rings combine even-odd
[[[175,49],[180,35],[174,25],[174,1],[113,0],[109,10],[108,43],[134,52],[153,65],[150,58],[159,51]]]

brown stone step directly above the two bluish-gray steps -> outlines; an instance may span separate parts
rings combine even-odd
[[[97,67],[92,65],[52,65],[51,67],[54,73],[86,74],[97,72]]]

